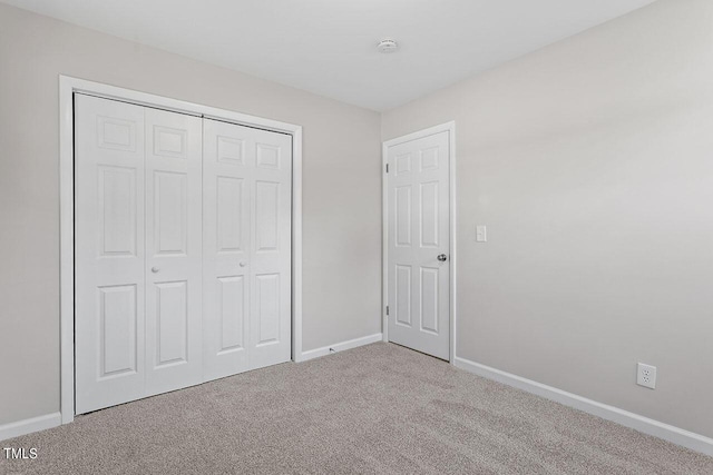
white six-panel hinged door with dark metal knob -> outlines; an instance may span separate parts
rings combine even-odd
[[[449,132],[387,150],[389,340],[449,359]]]

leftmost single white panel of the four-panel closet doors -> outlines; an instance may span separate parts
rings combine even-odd
[[[144,108],[75,98],[76,409],[145,394]]]

